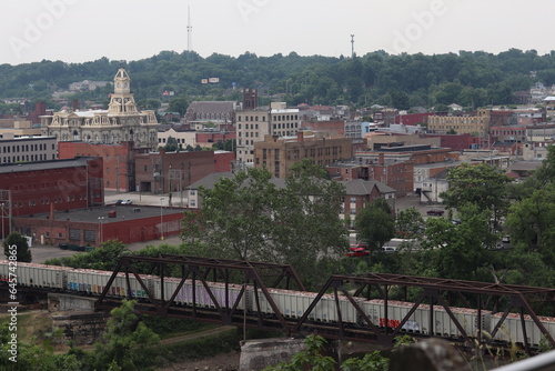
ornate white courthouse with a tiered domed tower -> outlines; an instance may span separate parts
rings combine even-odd
[[[114,92],[108,110],[61,111],[41,117],[43,136],[59,141],[120,143],[158,148],[158,121],[154,111],[139,111],[130,91],[128,72],[120,68],[113,78]]]

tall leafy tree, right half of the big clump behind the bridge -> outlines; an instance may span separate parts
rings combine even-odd
[[[279,190],[270,237],[275,262],[291,264],[305,287],[315,288],[333,273],[337,257],[349,247],[347,229],[340,219],[343,184],[310,160],[290,168],[285,189]]]

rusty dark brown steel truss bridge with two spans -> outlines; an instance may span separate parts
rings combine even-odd
[[[154,295],[152,289],[141,279],[139,271],[144,272],[144,269],[148,269],[148,274],[155,274],[161,280],[162,284],[160,285],[161,292],[158,294],[159,298]],[[173,278],[175,278],[175,272],[179,272],[179,279],[181,280],[173,292],[164,292],[163,281],[168,279],[170,272],[173,272]],[[131,290],[129,290],[130,277],[134,277],[139,281],[147,293],[148,300],[139,301],[135,308],[138,311],[145,314],[275,330],[285,334],[306,335],[310,333],[317,333],[327,339],[366,341],[391,345],[395,337],[405,333],[402,332],[403,325],[418,307],[422,308],[422,304],[428,305],[430,308],[427,334],[410,334],[422,338],[443,338],[444,335],[434,331],[434,305],[441,305],[462,334],[462,339],[455,339],[455,341],[467,342],[468,344],[473,341],[478,344],[491,344],[492,339],[500,331],[507,315],[513,312],[519,314],[522,331],[525,339],[524,348],[528,353],[532,353],[533,350],[527,341],[525,327],[526,314],[534,321],[545,339],[549,341],[552,345],[555,345],[554,339],[536,314],[543,311],[546,305],[552,305],[552,310],[555,310],[553,305],[555,289],[386,273],[369,273],[355,277],[332,275],[312,300],[304,313],[301,317],[291,318],[280,311],[279,305],[269,291],[273,288],[279,288],[296,290],[300,295],[306,292],[299,275],[290,265],[162,254],[155,258],[122,257],[101,297],[97,301],[97,308],[99,310],[112,309],[120,304],[120,299],[109,295],[110,287],[118,273],[125,274],[128,284],[127,292],[131,292]],[[174,303],[174,299],[185,280],[192,281],[192,305]],[[211,288],[212,282],[221,282],[225,288],[224,300],[221,304],[219,304],[216,293],[214,293]],[[241,292],[235,300],[233,300],[229,291],[232,283],[242,284]],[[214,302],[214,308],[196,305],[196,299],[194,298],[196,292],[194,289],[195,287],[202,287],[205,290]],[[253,290],[253,309],[242,310],[239,309],[239,303],[245,295],[248,287],[258,289]],[[375,321],[373,322],[363,311],[360,305],[360,299],[383,300],[384,323],[390,323],[389,303],[391,299],[389,297],[392,288],[395,288],[397,292],[396,299],[398,299],[398,292],[401,290],[404,298],[398,300],[411,301],[407,300],[407,294],[411,290],[413,293],[418,292],[420,297],[411,301],[414,303],[413,307],[401,321],[395,321],[395,325],[377,325]],[[334,322],[322,322],[310,319],[309,314],[311,311],[319,304],[324,294],[330,293],[333,294],[339,320]],[[361,323],[353,325],[342,320],[342,311],[340,308],[341,295],[346,298],[353,305]],[[273,315],[268,315],[266,312],[261,311],[262,300],[265,300],[271,305]],[[463,324],[454,315],[452,310],[454,305],[452,307],[450,302],[455,302],[455,300],[458,301],[458,305],[456,307],[473,308],[477,311],[477,329],[482,329],[480,323],[482,320],[481,314],[486,308],[492,308],[493,305],[494,311],[500,313],[503,312],[503,317],[491,334],[481,333],[481,331],[478,331],[477,338],[475,338],[474,334],[466,333]],[[222,300],[220,300],[220,302]],[[461,302],[464,303],[464,305],[461,305]],[[448,338],[448,340],[454,341],[453,338]]]

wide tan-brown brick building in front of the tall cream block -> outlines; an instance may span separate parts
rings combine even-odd
[[[265,136],[254,143],[254,166],[268,168],[276,178],[286,178],[291,166],[303,159],[326,167],[337,160],[353,157],[351,138],[316,138],[310,131],[300,131],[296,137]]]

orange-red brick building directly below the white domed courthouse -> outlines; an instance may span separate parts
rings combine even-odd
[[[95,144],[88,142],[59,142],[60,159],[75,157],[101,157],[103,159],[104,189],[135,191],[134,159],[138,154],[149,153],[149,148],[135,148],[134,142],[118,144]]]

